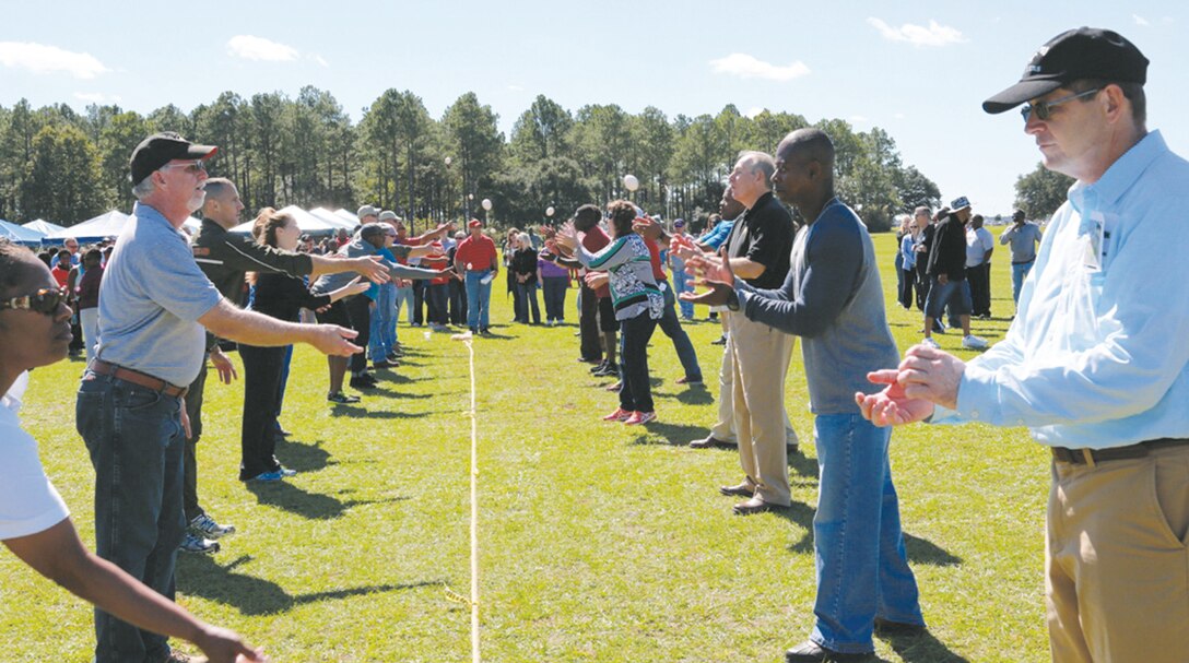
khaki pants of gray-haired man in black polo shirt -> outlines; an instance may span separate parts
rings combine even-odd
[[[793,336],[743,315],[726,321],[726,352],[732,355],[735,435],[740,465],[756,495],[779,506],[791,504],[785,449],[785,374]]]

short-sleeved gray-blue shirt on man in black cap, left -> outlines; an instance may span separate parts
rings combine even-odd
[[[159,211],[137,203],[99,288],[99,356],[188,385],[206,349],[197,320],[221,298],[182,234]]]

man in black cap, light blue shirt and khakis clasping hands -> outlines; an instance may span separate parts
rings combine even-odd
[[[917,346],[857,397],[876,423],[1028,427],[1051,449],[1045,594],[1059,662],[1189,656],[1189,162],[1145,127],[1147,58],[1064,32],[1019,83],[1045,168],[1077,179],[1053,214],[1006,339],[963,364]],[[1163,284],[1163,286],[1162,286]]]

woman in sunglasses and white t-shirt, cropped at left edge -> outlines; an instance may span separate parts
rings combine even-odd
[[[265,661],[225,629],[206,624],[83,548],[45,476],[37,442],[17,410],[27,371],[61,361],[70,345],[65,293],[27,250],[0,240],[0,541],[36,572],[131,624],[196,644],[212,662]]]

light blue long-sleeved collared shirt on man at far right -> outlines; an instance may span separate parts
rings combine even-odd
[[[1189,437],[1189,162],[1152,132],[1053,215],[1002,342],[967,364],[957,411],[1043,444]]]

